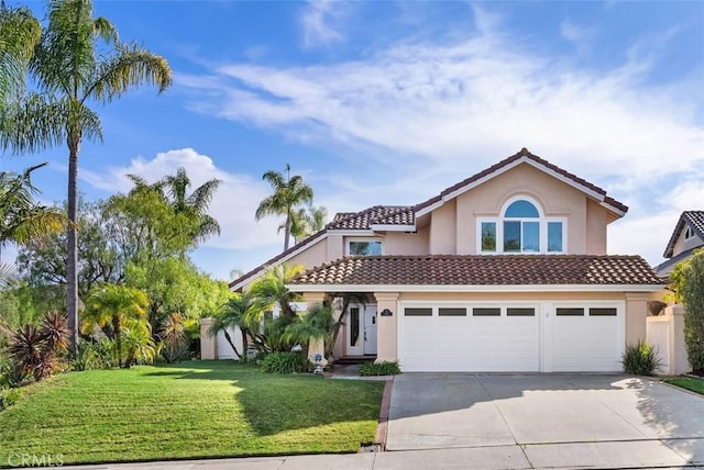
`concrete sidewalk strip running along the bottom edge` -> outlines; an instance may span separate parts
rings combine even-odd
[[[64,467],[79,470],[317,470],[317,469],[702,469],[704,456],[685,459],[679,444],[660,440],[539,444],[349,455],[253,457],[221,460]],[[689,443],[691,444],[691,443]],[[704,444],[700,443],[700,444]],[[702,446],[698,446],[702,448]],[[697,463],[698,462],[698,466]]]

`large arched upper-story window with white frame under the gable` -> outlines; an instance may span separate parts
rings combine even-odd
[[[565,253],[565,221],[544,217],[527,198],[506,205],[501,217],[479,221],[479,253]]]

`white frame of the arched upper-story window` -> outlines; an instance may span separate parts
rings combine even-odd
[[[508,210],[510,204],[513,204],[516,201],[530,202],[538,211],[538,217],[505,216],[506,211]],[[505,249],[504,224],[506,222],[520,223],[520,249],[518,250],[508,251]],[[538,223],[538,236],[539,236],[538,250],[526,250],[524,248],[524,235],[525,235],[524,224],[529,222]],[[549,228],[548,227],[549,227],[549,224],[551,223],[560,223],[562,226],[562,249],[559,251],[549,250],[549,244],[548,244]],[[496,236],[496,247],[494,250],[483,249],[482,235],[483,235],[484,224],[494,224],[495,236]],[[568,219],[546,216],[541,204],[539,204],[535,199],[528,195],[516,195],[514,198],[510,198],[504,203],[498,216],[476,219],[476,253],[480,255],[564,255],[568,253]]]

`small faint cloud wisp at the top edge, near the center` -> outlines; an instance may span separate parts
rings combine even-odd
[[[309,0],[299,21],[307,47],[344,41],[339,31],[343,3],[331,0]]]

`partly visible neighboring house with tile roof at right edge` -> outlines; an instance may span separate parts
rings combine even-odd
[[[669,258],[656,271],[667,278],[675,265],[692,256],[692,251],[704,246],[704,211],[684,211],[662,256]]]

